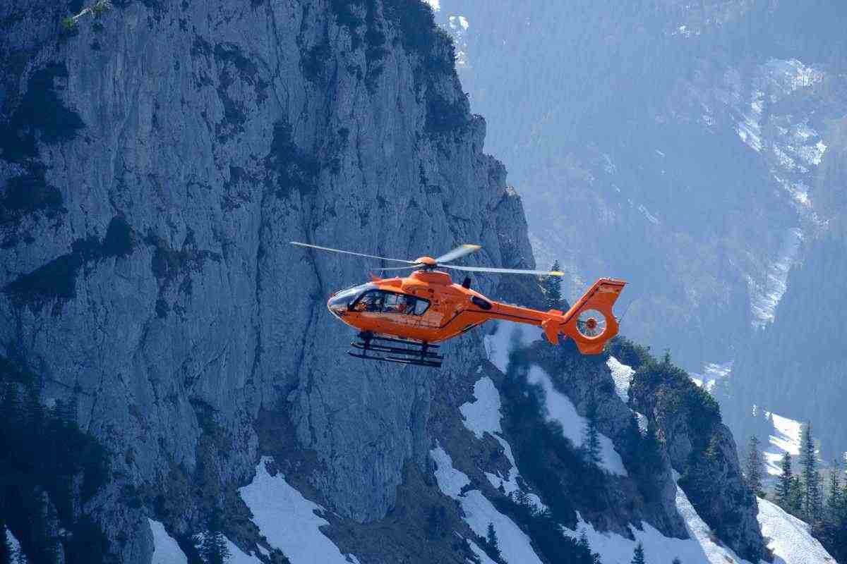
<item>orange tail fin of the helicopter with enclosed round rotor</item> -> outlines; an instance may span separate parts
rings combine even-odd
[[[623,280],[601,278],[567,310],[563,320],[548,320],[542,324],[546,337],[556,342],[557,335],[564,333],[576,342],[580,353],[601,353],[606,341],[617,335],[617,319],[612,306],[624,286]]]

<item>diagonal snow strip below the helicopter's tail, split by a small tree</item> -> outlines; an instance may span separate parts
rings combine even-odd
[[[576,408],[573,407],[573,402],[553,387],[550,376],[538,366],[529,369],[527,380],[530,384],[539,385],[544,390],[547,420],[558,421],[562,424],[562,434],[575,446],[581,446],[586,420],[577,413]],[[601,466],[612,474],[628,475],[627,469],[623,466],[621,455],[615,450],[612,441],[602,433],[598,435],[600,436],[601,446]]]

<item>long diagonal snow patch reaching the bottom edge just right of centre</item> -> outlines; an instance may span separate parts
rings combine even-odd
[[[429,451],[429,456],[435,462],[435,480],[439,489],[459,502],[465,514],[465,523],[468,523],[474,534],[484,537],[491,523],[497,534],[501,554],[506,561],[541,564],[538,555],[532,550],[529,537],[512,519],[498,512],[481,491],[470,490],[463,496],[460,495],[462,486],[470,484],[470,480],[467,475],[453,468],[452,458],[441,446]]]

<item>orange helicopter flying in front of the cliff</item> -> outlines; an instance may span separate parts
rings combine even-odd
[[[488,320],[540,326],[547,340],[554,345],[559,335],[571,337],[583,354],[601,353],[606,341],[617,335],[617,319],[612,313],[612,306],[626,285],[622,280],[601,278],[567,313],[558,309],[540,311],[495,302],[474,292],[470,288],[470,278],[466,277],[462,284],[456,284],[448,273],[435,270],[563,276],[559,271],[447,264],[479,250],[479,245],[463,244],[435,259],[422,256],[416,260],[402,260],[296,241],[291,241],[291,244],[407,265],[376,269],[379,271],[412,270],[407,277],[379,278],[371,275],[371,282],[349,287],[329,297],[329,313],[359,331],[360,341],[351,344],[362,352],[348,352],[359,359],[437,368],[444,357],[437,352],[439,346],[435,343],[457,337]]]

